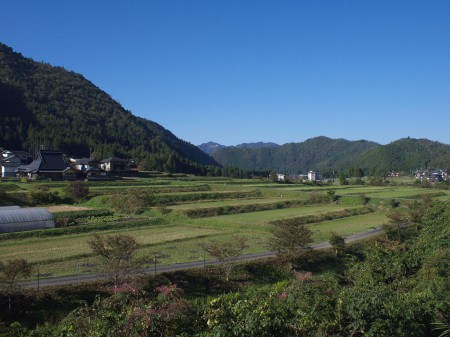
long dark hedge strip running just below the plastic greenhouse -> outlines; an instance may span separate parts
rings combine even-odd
[[[8,241],[15,239],[23,239],[30,237],[50,237],[50,236],[62,236],[67,234],[81,234],[89,232],[98,232],[111,229],[123,229],[123,228],[139,228],[148,226],[160,226],[165,225],[166,221],[164,219],[138,219],[138,220],[121,220],[121,221],[110,221],[103,224],[95,225],[80,225],[73,227],[64,228],[51,228],[51,229],[40,229],[34,231],[24,231],[24,232],[14,232],[14,233],[4,233],[0,235],[0,241]]]

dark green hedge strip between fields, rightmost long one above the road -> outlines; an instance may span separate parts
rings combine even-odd
[[[341,211],[327,212],[327,213],[317,214],[317,215],[305,215],[305,216],[290,218],[290,219],[274,220],[274,221],[270,221],[269,223],[272,225],[276,225],[276,226],[277,225],[298,226],[298,225],[306,225],[306,224],[310,224],[310,223],[330,221],[330,220],[334,220],[334,219],[347,218],[347,217],[355,216],[355,215],[369,214],[369,213],[373,213],[373,212],[374,212],[374,210],[369,207],[358,207],[358,208],[351,208],[351,209],[343,209]]]

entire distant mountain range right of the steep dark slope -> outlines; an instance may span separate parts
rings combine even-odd
[[[273,148],[224,147],[211,153],[224,166],[289,174],[309,170],[333,175],[350,167],[411,171],[424,166],[450,167],[450,146],[427,139],[404,138],[387,145],[320,136]]]

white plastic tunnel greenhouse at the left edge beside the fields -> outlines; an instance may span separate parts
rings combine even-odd
[[[54,227],[53,215],[45,208],[0,207],[0,233]]]

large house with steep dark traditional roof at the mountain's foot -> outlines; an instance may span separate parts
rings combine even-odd
[[[29,179],[75,179],[75,170],[66,161],[64,153],[52,150],[40,150],[38,158],[29,165],[20,166],[18,173]]]

